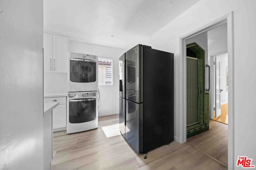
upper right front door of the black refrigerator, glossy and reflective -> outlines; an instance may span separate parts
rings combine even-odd
[[[140,103],[140,45],[126,52],[126,99]]]

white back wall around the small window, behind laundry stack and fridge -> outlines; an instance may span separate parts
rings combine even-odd
[[[127,50],[70,41],[69,51],[98,55],[98,57],[113,59],[113,85],[99,85],[100,101],[98,103],[98,115],[111,115],[119,112],[119,74],[118,61],[119,57]]]

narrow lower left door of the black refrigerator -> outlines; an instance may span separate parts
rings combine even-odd
[[[126,100],[119,97],[119,129],[125,138],[125,117],[126,117]]]

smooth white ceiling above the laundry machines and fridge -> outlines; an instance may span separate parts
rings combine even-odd
[[[199,0],[44,0],[44,30],[129,49]]]

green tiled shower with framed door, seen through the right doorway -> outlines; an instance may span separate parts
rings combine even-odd
[[[209,130],[209,93],[204,89],[204,49],[197,43],[190,43],[187,45],[187,56],[190,57],[187,59],[188,139]],[[196,89],[197,86],[199,89]]]

